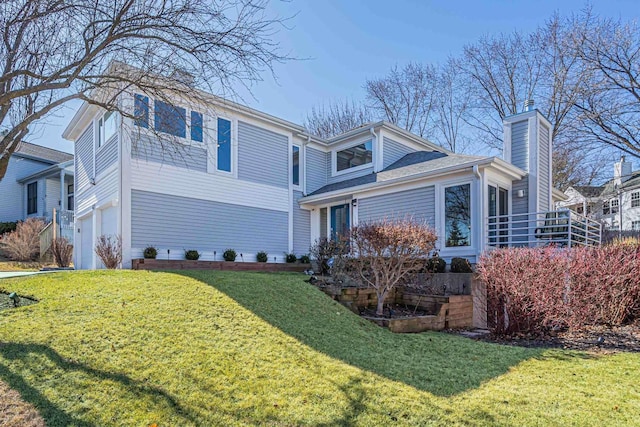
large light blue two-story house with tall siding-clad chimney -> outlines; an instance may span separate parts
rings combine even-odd
[[[437,230],[445,258],[548,244],[533,230],[553,206],[552,127],[531,106],[504,120],[499,158],[452,153],[388,122],[322,139],[183,89],[170,101],[123,93],[125,115],[85,103],[69,123],[77,267],[99,267],[103,234],[121,236],[125,268],[147,246],[167,259],[197,249],[221,260],[233,248],[283,262],[354,224],[407,214]]]

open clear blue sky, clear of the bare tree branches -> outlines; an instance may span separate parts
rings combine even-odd
[[[251,107],[302,123],[313,106],[364,97],[366,79],[385,75],[409,61],[438,63],[457,56],[484,34],[532,31],[555,11],[577,13],[581,0],[420,1],[293,0],[274,1],[273,13],[293,16],[277,35],[285,53],[305,60],[277,64],[277,81],[265,73],[251,93],[237,99]],[[602,16],[640,18],[637,0],[592,2]],[[77,104],[35,129],[29,141],[72,152],[61,137]]]

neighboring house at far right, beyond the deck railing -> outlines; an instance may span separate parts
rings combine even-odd
[[[558,206],[600,221],[610,231],[640,231],[640,171],[625,156],[613,165],[613,179],[601,186],[573,186]]]

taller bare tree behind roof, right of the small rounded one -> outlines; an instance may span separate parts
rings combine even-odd
[[[431,65],[409,63],[386,77],[367,80],[367,106],[377,117],[427,137],[436,97],[437,71]]]

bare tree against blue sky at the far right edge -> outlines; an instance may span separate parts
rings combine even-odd
[[[591,90],[576,104],[581,135],[640,157],[640,28],[635,22],[584,21],[576,38]]]

